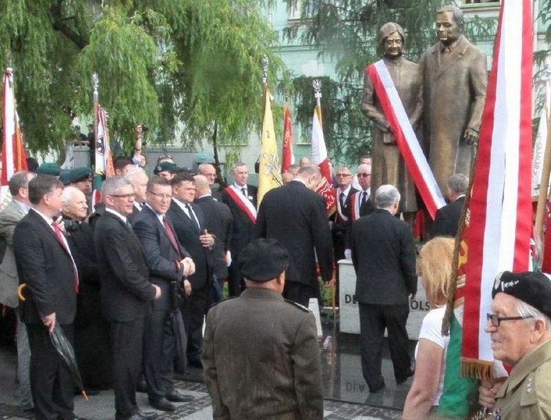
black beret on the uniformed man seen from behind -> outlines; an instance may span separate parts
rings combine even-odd
[[[289,252],[275,239],[255,239],[239,253],[238,263],[245,279],[269,281],[289,266]]]

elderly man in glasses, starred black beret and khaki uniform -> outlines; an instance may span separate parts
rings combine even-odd
[[[551,419],[551,280],[506,271],[492,298],[485,330],[495,359],[512,370],[501,386],[482,381],[480,403],[493,406],[495,419]]]

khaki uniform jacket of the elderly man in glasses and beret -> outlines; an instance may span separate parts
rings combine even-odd
[[[551,419],[551,340],[528,352],[496,395],[495,418]]]

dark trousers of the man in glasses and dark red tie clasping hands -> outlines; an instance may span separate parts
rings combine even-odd
[[[145,318],[143,370],[147,394],[158,400],[174,390],[174,352],[176,342],[169,324],[169,310],[154,310]]]

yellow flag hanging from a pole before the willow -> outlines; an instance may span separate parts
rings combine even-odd
[[[262,137],[260,137],[260,166],[258,170],[258,207],[262,197],[269,190],[282,185],[280,163],[278,157],[278,143],[273,130],[271,114],[270,90],[264,88],[264,119],[262,120]]]

